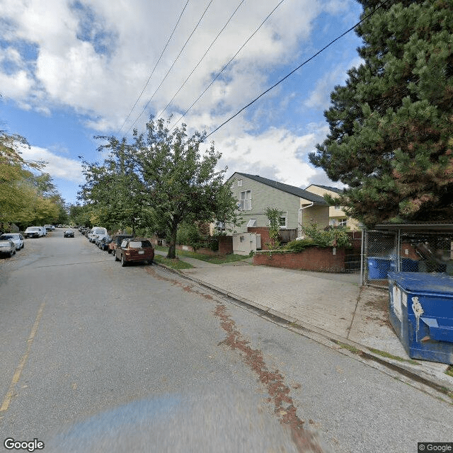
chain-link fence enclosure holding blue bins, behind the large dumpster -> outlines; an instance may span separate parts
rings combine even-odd
[[[453,233],[365,230],[362,283],[386,287],[391,271],[453,275]]]

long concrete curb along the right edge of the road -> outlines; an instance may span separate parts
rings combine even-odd
[[[186,275],[180,272],[177,269],[169,268],[167,265],[156,263],[154,264],[161,266],[161,268],[165,268],[172,273],[179,275],[180,277],[185,278],[186,280],[193,281],[202,287],[207,289],[211,289],[214,292],[221,294],[222,296],[229,297],[230,299],[235,300],[236,302],[240,302],[241,304],[245,304],[247,306],[252,306],[254,309],[258,309],[259,311],[263,312],[263,315],[271,315],[280,321],[286,322],[288,324],[292,324],[290,326],[291,330],[297,331],[298,333],[311,338],[311,340],[315,340],[318,343],[322,343],[323,345],[327,345],[331,348],[335,348],[339,352],[345,353],[345,355],[349,355],[352,357],[361,357],[364,360],[371,360],[372,362],[376,362],[379,365],[383,365],[387,369],[390,369],[393,372],[398,372],[398,374],[402,374],[404,377],[412,379],[419,384],[423,384],[425,386],[430,387],[430,389],[434,389],[442,394],[445,394],[449,398],[449,403],[453,403],[453,383],[449,382],[447,379],[444,381],[439,379],[438,377],[427,374],[423,370],[415,369],[416,365],[411,365],[409,363],[402,363],[398,360],[392,360],[389,357],[383,357],[382,355],[378,355],[375,352],[372,352],[367,348],[367,346],[361,345],[360,343],[355,343],[348,338],[343,338],[341,336],[337,336],[335,333],[331,333],[329,331],[325,331],[322,328],[318,328],[315,326],[311,326],[308,323],[304,323],[299,319],[293,318],[287,314],[281,313],[280,311],[270,309],[267,306],[258,304],[258,302],[251,301],[249,299],[240,297],[234,293],[227,292],[222,288],[216,287],[215,285],[211,285],[209,283],[203,282],[202,280],[197,279],[196,277],[192,277],[190,275]],[[321,338],[319,338],[321,337]],[[333,345],[328,345],[328,342],[333,343]],[[346,345],[346,348],[342,345]],[[350,347],[348,349],[347,347]]]

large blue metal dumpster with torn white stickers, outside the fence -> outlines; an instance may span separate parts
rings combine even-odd
[[[453,365],[453,277],[390,272],[389,316],[409,357]]]

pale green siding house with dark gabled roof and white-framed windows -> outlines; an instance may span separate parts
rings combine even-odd
[[[301,226],[304,224],[328,226],[327,202],[307,190],[239,172],[234,173],[226,184],[231,186],[238,200],[237,209],[245,221],[236,227],[239,233],[245,233],[248,226],[268,226],[265,215],[268,207],[282,211],[280,229],[297,230],[297,236],[302,236]]]

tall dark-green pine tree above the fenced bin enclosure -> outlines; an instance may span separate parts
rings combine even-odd
[[[379,4],[359,1],[364,15]],[[331,93],[330,134],[311,163],[348,185],[336,205],[369,226],[451,219],[451,2],[389,2],[356,32],[365,62]]]

